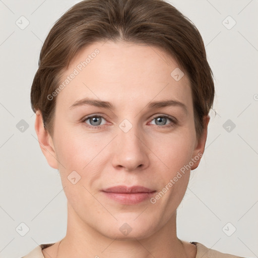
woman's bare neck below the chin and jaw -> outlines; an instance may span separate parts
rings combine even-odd
[[[148,235],[148,234],[146,234]],[[130,236],[130,234],[128,234]],[[110,238],[83,222],[68,202],[68,228],[58,248],[58,257],[151,258],[195,257],[196,247],[176,235],[176,212],[148,237]]]

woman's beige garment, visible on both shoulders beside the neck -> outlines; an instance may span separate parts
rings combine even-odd
[[[228,253],[222,253],[214,249],[209,249],[205,245],[198,242],[191,242],[191,243],[197,246],[196,258],[243,258],[240,256],[228,254]],[[47,248],[53,244],[54,243],[40,244],[36,248],[34,248],[30,253],[28,253],[27,255],[21,258],[44,258],[42,249]]]

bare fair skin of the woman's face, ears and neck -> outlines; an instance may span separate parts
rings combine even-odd
[[[184,73],[175,81],[170,73],[179,68],[178,63],[156,47],[96,42],[76,55],[62,79],[96,48],[100,53],[56,96],[51,136],[44,130],[40,112],[36,113],[41,150],[48,164],[59,170],[68,199],[67,235],[57,256],[195,257],[196,246],[177,238],[176,209],[190,170],[198,167],[201,158],[155,204],[149,199],[120,204],[101,190],[122,184],[159,192],[180,168],[204,152],[210,117],[205,117],[206,129],[198,140],[188,77]],[[85,97],[109,101],[115,109],[70,108]],[[186,111],[179,105],[147,108],[152,101],[168,99],[183,103]],[[96,126],[96,121],[83,121],[89,115],[103,116],[100,128],[86,127]],[[168,115],[178,122],[159,121],[154,115]],[[124,119],[133,125],[127,133],[119,127]],[[162,122],[172,126],[164,127]],[[81,176],[76,184],[68,180],[74,170]],[[119,230],[124,223],[132,228],[128,235]],[[56,257],[58,244],[43,249],[44,257]]]

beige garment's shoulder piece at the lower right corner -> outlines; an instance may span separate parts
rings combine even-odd
[[[233,254],[222,253],[214,249],[210,249],[198,242],[191,242],[197,246],[196,258],[244,258]]]

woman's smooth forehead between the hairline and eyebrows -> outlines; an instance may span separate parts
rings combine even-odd
[[[91,97],[133,105],[173,98],[191,105],[190,84],[183,73],[176,60],[160,48],[96,42],[78,52],[62,74],[60,84],[64,87],[57,103],[73,104]]]

